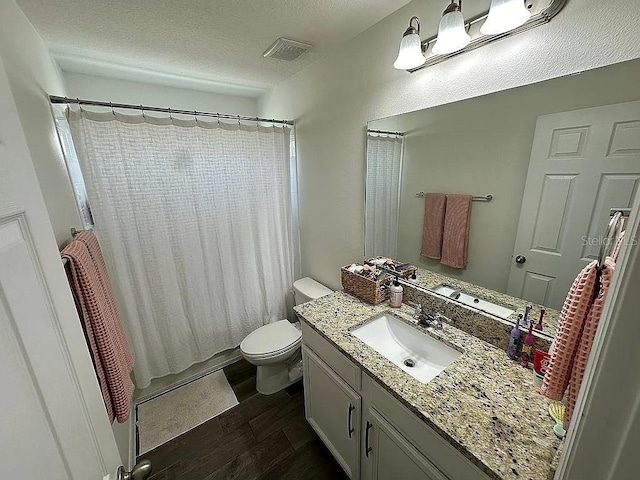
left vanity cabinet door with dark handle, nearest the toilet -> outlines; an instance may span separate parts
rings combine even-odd
[[[353,480],[360,476],[361,398],[308,347],[303,347],[305,414]]]

